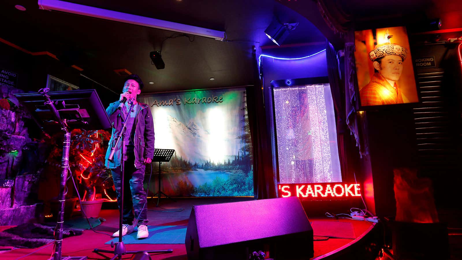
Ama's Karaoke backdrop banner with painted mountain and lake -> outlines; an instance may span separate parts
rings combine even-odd
[[[154,147],[175,149],[170,162],[161,164],[164,193],[176,197],[254,196],[245,96],[245,88],[140,96],[139,101],[150,106],[154,118]],[[152,163],[152,167],[148,196],[158,191],[159,165]]]

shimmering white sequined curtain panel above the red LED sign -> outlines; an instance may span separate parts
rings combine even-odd
[[[274,88],[280,183],[341,182],[329,84]]]

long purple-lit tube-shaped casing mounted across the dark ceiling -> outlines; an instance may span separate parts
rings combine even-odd
[[[184,25],[125,12],[116,12],[97,7],[69,3],[60,0],[38,0],[38,6],[43,10],[69,12],[127,24],[141,25],[167,31],[176,31],[189,35],[208,37],[219,41],[223,41],[226,37],[224,31],[216,31],[192,25]]]

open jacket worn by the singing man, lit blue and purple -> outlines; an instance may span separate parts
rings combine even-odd
[[[111,162],[108,160],[111,148],[116,142],[117,136],[122,129],[123,122],[125,119],[124,114],[119,107],[120,102],[116,101],[111,103],[106,109],[106,113],[109,116],[109,120],[112,124],[112,136],[109,140],[109,147],[106,152],[105,166],[108,168],[116,168],[121,165],[122,161],[122,140],[119,141],[114,154],[114,160]],[[151,109],[149,105],[138,102],[140,105],[140,111],[136,115],[135,119],[135,135],[134,135],[134,154],[135,154],[135,167],[140,168],[143,166],[145,158],[152,159],[154,155],[154,121],[152,119]],[[128,104],[127,104],[128,105]]]

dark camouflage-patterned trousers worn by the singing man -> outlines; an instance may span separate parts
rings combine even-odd
[[[134,217],[138,218],[138,226],[147,225],[147,201],[146,192],[144,191],[143,181],[146,166],[135,168],[134,154],[127,154],[128,160],[125,161],[125,176],[123,187],[123,224],[133,225]],[[121,188],[121,167],[111,169],[114,186],[116,186],[117,204],[120,209],[120,188]],[[135,212],[135,215],[133,214]]]

